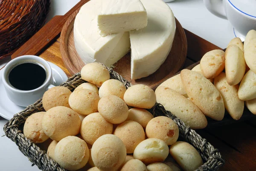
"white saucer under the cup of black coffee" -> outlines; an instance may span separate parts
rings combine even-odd
[[[58,86],[64,81],[67,81],[67,75],[60,67],[51,62],[48,62],[52,68],[53,85]],[[3,70],[0,70],[0,75]],[[10,101],[6,95],[5,88],[3,87],[3,81],[0,77],[0,116],[5,119],[12,119],[13,115],[24,110],[26,107],[21,107]]]

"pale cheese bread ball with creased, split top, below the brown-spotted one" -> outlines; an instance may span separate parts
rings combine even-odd
[[[168,145],[163,140],[149,138],[137,145],[133,157],[147,164],[163,162],[168,156],[168,149]]]

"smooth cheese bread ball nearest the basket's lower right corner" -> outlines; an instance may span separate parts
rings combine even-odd
[[[169,152],[184,171],[194,171],[203,165],[198,151],[187,142],[175,142]]]

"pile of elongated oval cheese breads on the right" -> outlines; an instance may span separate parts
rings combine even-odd
[[[226,52],[207,52],[192,70],[182,70],[155,90],[157,102],[193,129],[207,126],[207,117],[220,121],[225,109],[240,119],[247,108],[256,114],[256,31],[244,44],[234,38]]]

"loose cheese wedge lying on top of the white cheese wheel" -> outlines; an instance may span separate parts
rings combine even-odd
[[[147,12],[140,0],[103,0],[98,16],[102,36],[138,30],[147,26]]]

